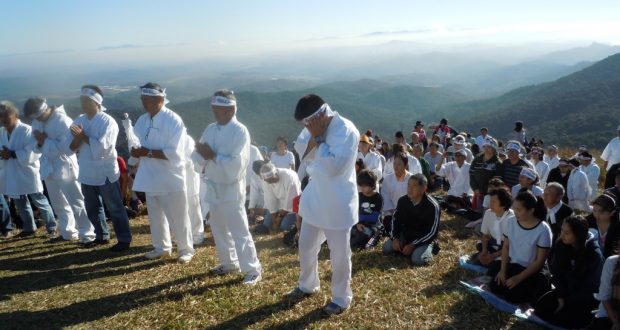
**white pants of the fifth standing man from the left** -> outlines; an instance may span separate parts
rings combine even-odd
[[[222,266],[239,267],[242,273],[259,275],[262,269],[248,228],[244,201],[209,206],[211,207],[209,224]]]

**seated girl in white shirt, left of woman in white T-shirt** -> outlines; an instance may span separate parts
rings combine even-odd
[[[514,212],[510,209],[512,197],[504,189],[492,190],[490,208],[482,218],[482,241],[478,241],[476,249],[478,261],[489,269],[490,276],[497,275],[501,266],[502,255],[502,227],[506,221],[516,221]]]

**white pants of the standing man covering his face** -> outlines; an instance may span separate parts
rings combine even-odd
[[[319,291],[319,251],[326,239],[332,265],[332,301],[347,308],[353,299],[351,229],[323,229],[302,220],[299,234],[299,288],[307,293]]]

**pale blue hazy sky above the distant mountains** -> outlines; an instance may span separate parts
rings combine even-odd
[[[617,0],[0,0],[0,12],[0,68],[28,58],[183,61],[393,40],[620,44]]]

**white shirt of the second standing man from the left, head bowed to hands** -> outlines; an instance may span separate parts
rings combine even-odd
[[[67,153],[67,146],[71,143],[71,123],[61,105],[52,110],[46,122],[34,119],[32,131],[44,132],[47,138],[40,147],[35,140],[34,152],[41,154],[41,179],[74,181],[78,177],[77,157]],[[33,134],[34,138],[34,134]]]

